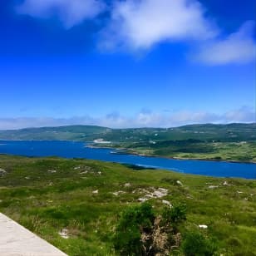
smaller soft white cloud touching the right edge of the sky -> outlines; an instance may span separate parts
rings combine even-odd
[[[254,22],[245,22],[238,32],[205,44],[196,60],[209,65],[247,63],[255,60]]]

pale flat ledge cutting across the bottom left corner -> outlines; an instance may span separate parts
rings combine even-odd
[[[67,256],[0,213],[0,256]]]

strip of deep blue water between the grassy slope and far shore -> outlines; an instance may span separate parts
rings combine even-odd
[[[90,148],[83,142],[64,140],[4,140],[0,141],[0,154],[25,156],[60,156],[85,158],[131,165],[142,165],[177,172],[216,177],[256,179],[256,164],[206,160],[173,160],[161,157],[112,154],[113,149]]]

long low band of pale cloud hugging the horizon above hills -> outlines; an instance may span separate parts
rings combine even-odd
[[[111,113],[101,117],[81,116],[71,118],[19,117],[0,118],[0,130],[42,126],[96,125],[111,128],[174,127],[194,123],[256,122],[256,113],[249,107],[216,114],[205,111],[170,111],[168,113],[140,111],[135,116]]]

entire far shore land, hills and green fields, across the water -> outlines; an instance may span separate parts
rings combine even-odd
[[[111,129],[101,126],[61,126],[0,130],[0,140],[111,141],[104,147],[130,154],[180,159],[256,162],[256,123],[190,125],[174,128]],[[101,143],[95,143],[101,147]]]

